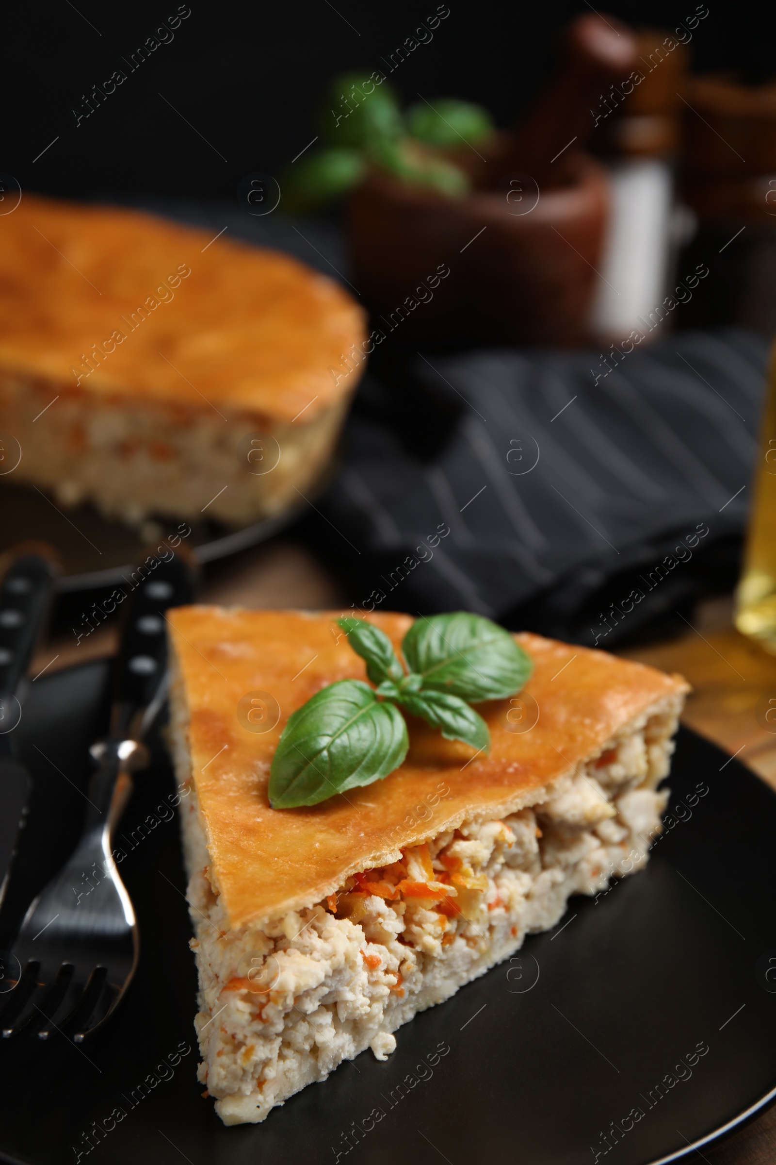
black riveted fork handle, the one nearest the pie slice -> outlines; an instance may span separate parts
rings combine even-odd
[[[192,601],[197,580],[192,556],[183,548],[172,551],[165,546],[165,557],[154,549],[118,588],[123,593],[123,609],[113,680],[112,736],[131,735],[133,718],[154,699],[168,664],[166,612]]]

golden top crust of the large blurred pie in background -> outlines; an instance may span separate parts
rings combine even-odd
[[[343,355],[362,348],[364,312],[289,255],[218,232],[24,193],[0,217],[0,369],[208,419],[211,404],[323,414],[358,380]]]

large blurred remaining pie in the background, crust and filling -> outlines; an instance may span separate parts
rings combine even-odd
[[[239,525],[300,502],[363,368],[363,312],[218,234],[27,193],[0,216],[7,480],[130,522]]]

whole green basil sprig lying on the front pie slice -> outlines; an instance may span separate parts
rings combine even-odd
[[[272,809],[318,805],[398,769],[410,739],[397,705],[448,740],[490,748],[487,725],[470,702],[514,696],[533,669],[510,633],[482,615],[418,619],[401,643],[406,671],[373,623],[353,616],[337,623],[376,687],[342,679],[291,714],[272,757]]]

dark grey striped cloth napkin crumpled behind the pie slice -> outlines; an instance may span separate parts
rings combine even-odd
[[[601,647],[733,581],[767,344],[419,354],[368,374],[320,503],[356,606],[467,608]],[[321,527],[323,529],[323,527]]]

